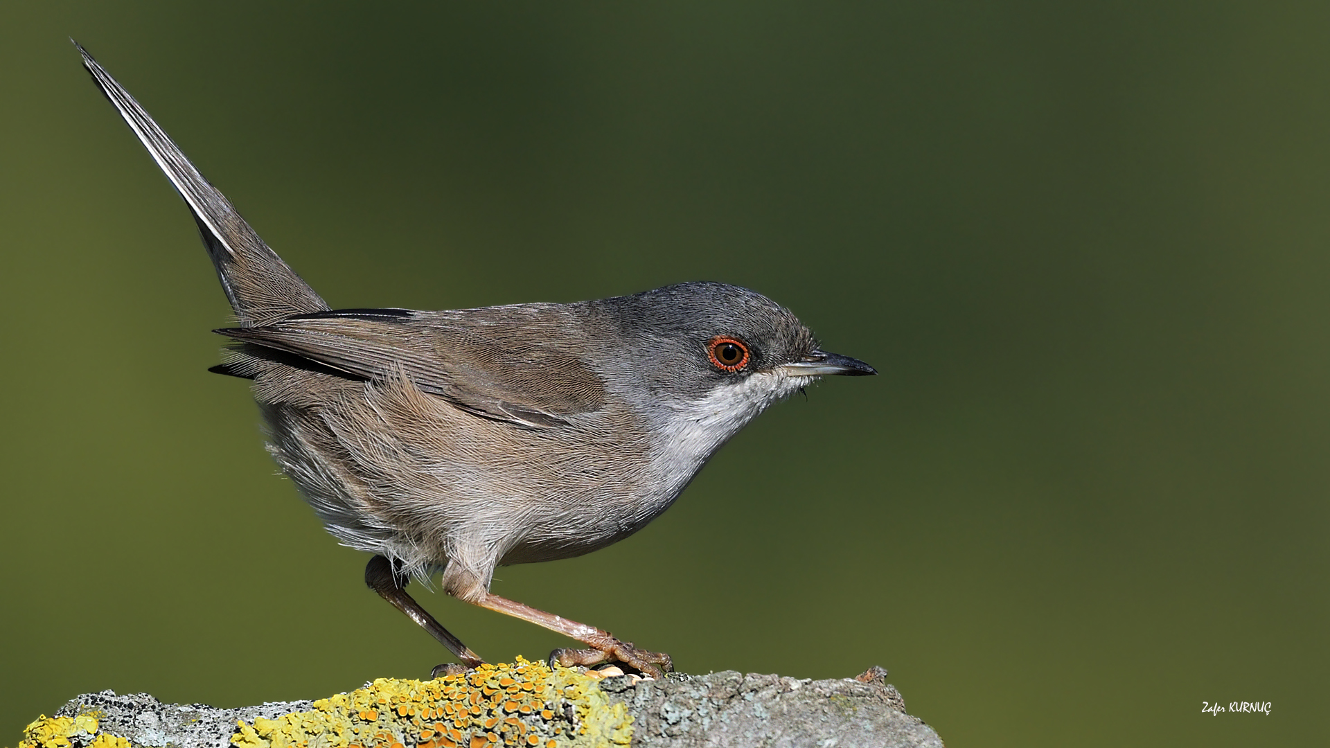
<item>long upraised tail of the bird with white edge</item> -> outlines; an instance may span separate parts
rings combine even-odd
[[[319,294],[263,244],[226,196],[198,173],[134,97],[77,41],[74,47],[82,55],[84,67],[92,73],[93,83],[106,94],[189,205],[198,222],[203,246],[217,268],[222,290],[226,291],[241,326],[269,325],[291,314],[326,311],[329,305]]]

